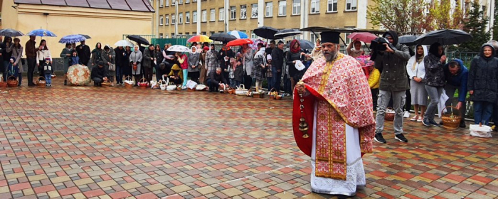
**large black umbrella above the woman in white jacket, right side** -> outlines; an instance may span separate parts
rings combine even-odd
[[[444,29],[425,33],[413,42],[420,45],[432,45],[436,42],[441,45],[453,45],[464,43],[471,39],[472,36],[462,30]]]

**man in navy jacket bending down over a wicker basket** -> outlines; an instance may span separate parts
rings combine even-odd
[[[460,116],[465,117],[465,97],[467,97],[467,80],[469,70],[463,65],[462,60],[455,59],[445,65],[445,91],[447,97],[446,106],[455,106],[452,104],[455,92],[458,90],[458,103],[456,108],[460,110]],[[465,128],[465,119],[460,120],[460,127]]]

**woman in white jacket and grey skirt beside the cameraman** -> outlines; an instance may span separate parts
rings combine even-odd
[[[422,122],[428,101],[428,94],[423,82],[425,78],[423,58],[425,57],[425,52],[427,50],[422,45],[417,45],[415,49],[415,55],[413,55],[406,64],[406,72],[408,72],[408,76],[410,77],[411,104],[415,111],[415,116],[412,117],[410,121]],[[420,114],[418,114],[419,108]]]

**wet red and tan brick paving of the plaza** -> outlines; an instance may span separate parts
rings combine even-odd
[[[0,198],[333,198],[310,193],[291,101],[122,86],[1,88]],[[358,198],[498,198],[498,139],[405,119]]]

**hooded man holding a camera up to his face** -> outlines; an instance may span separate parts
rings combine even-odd
[[[406,90],[410,88],[406,78],[406,62],[410,59],[410,52],[406,45],[398,43],[398,33],[387,31],[383,34],[391,45],[383,43],[386,50],[375,53],[375,67],[383,68],[381,74],[381,86],[379,87],[378,105],[376,115],[375,141],[386,144],[386,139],[382,136],[384,129],[384,115],[389,99],[393,97],[393,107],[396,112],[394,117],[394,138],[398,141],[408,142],[403,136],[403,106],[406,100]],[[391,48],[391,46],[393,49]]]

